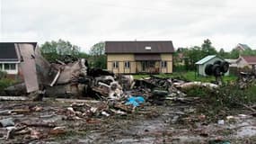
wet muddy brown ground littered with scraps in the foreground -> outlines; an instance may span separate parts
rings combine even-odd
[[[198,104],[145,103],[127,115],[95,114],[68,120],[66,108],[71,102],[49,99],[43,102],[15,101],[0,103],[0,120],[13,118],[21,123],[52,122],[52,126],[28,126],[29,132],[6,139],[8,130],[0,128],[0,143],[73,144],[73,143],[256,143],[256,118],[246,110],[226,112],[209,121],[199,113]],[[97,107],[102,103],[88,103]],[[30,110],[6,112],[10,110]],[[222,121],[223,120],[223,121]],[[54,127],[61,128],[52,132]]]

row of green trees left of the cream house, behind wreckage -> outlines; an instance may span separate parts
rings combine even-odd
[[[106,56],[104,50],[104,42],[98,42],[90,49],[89,54],[81,51],[81,47],[72,44],[68,40],[51,40],[46,41],[40,46],[42,56],[49,62],[57,60],[65,62],[68,58],[86,58],[90,67],[106,68]],[[66,57],[67,56],[67,57]]]

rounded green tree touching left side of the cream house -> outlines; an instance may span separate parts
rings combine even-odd
[[[93,67],[106,68],[107,56],[105,55],[105,43],[100,41],[93,45],[89,52],[91,56],[90,64]]]

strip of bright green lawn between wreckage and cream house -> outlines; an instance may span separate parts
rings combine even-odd
[[[144,77],[148,77],[150,75],[134,75],[135,79],[140,79]],[[179,78],[182,80],[188,80],[188,81],[200,81],[200,82],[212,82],[215,81],[215,76],[196,76],[194,71],[188,71],[188,72],[173,72],[172,74],[159,74],[159,75],[153,75],[153,76],[159,76],[159,77],[166,77],[166,78]],[[223,80],[225,82],[232,82],[237,79],[236,76],[224,76]]]

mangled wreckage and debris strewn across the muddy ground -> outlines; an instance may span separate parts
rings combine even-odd
[[[237,125],[241,121],[255,124],[255,105],[243,104],[251,111],[245,116],[222,112],[221,117],[210,121],[209,114],[198,112],[197,104],[203,105],[201,98],[188,97],[184,91],[194,86],[215,91],[219,88],[216,84],[158,76],[135,80],[133,76],[88,67],[84,58],[57,59],[49,64],[38,49],[22,51],[23,57],[28,56],[22,68],[30,67],[31,71],[24,73],[23,84],[5,89],[9,96],[0,96],[0,139],[9,143],[17,142],[12,141],[16,138],[22,143],[57,136],[75,139],[75,132],[75,136],[93,140],[84,143],[186,143],[194,139],[195,143],[228,144],[228,140],[216,139],[216,135],[229,128],[240,129]],[[242,74],[238,84],[244,88],[254,81],[255,76]],[[42,102],[32,102],[30,96]],[[184,134],[188,136],[181,137]]]

